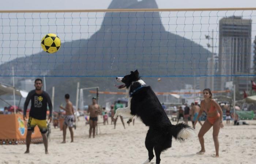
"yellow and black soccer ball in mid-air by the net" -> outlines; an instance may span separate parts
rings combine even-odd
[[[50,54],[57,52],[60,49],[61,41],[56,34],[47,34],[41,40],[41,47],[45,52]]]

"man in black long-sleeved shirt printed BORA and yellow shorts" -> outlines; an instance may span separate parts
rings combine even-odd
[[[35,79],[35,90],[31,90],[27,95],[24,110],[23,110],[23,119],[26,120],[26,111],[29,101],[31,100],[31,107],[29,112],[29,121],[27,122],[27,136],[26,136],[26,145],[27,150],[25,153],[29,153],[29,146],[31,142],[31,134],[34,131],[35,126],[37,125],[40,129],[40,132],[43,137],[45,153],[48,154],[48,140],[46,136],[47,132],[47,122],[46,122],[46,112],[47,104],[49,106],[49,122],[52,121],[52,102],[48,93],[42,90],[42,80]]]

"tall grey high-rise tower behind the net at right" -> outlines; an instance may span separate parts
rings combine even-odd
[[[216,79],[217,90],[225,89],[225,82],[234,81],[233,75],[249,74],[251,31],[251,19],[232,16],[219,21],[218,74],[225,76]]]

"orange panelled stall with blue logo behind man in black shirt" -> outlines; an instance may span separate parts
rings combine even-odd
[[[0,145],[25,144],[27,124],[21,114],[0,114]],[[36,126],[31,136],[32,143],[42,142],[39,128]]]

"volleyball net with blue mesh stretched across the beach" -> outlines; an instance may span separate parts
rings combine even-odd
[[[0,11],[0,76],[255,76],[255,22],[256,8]]]

